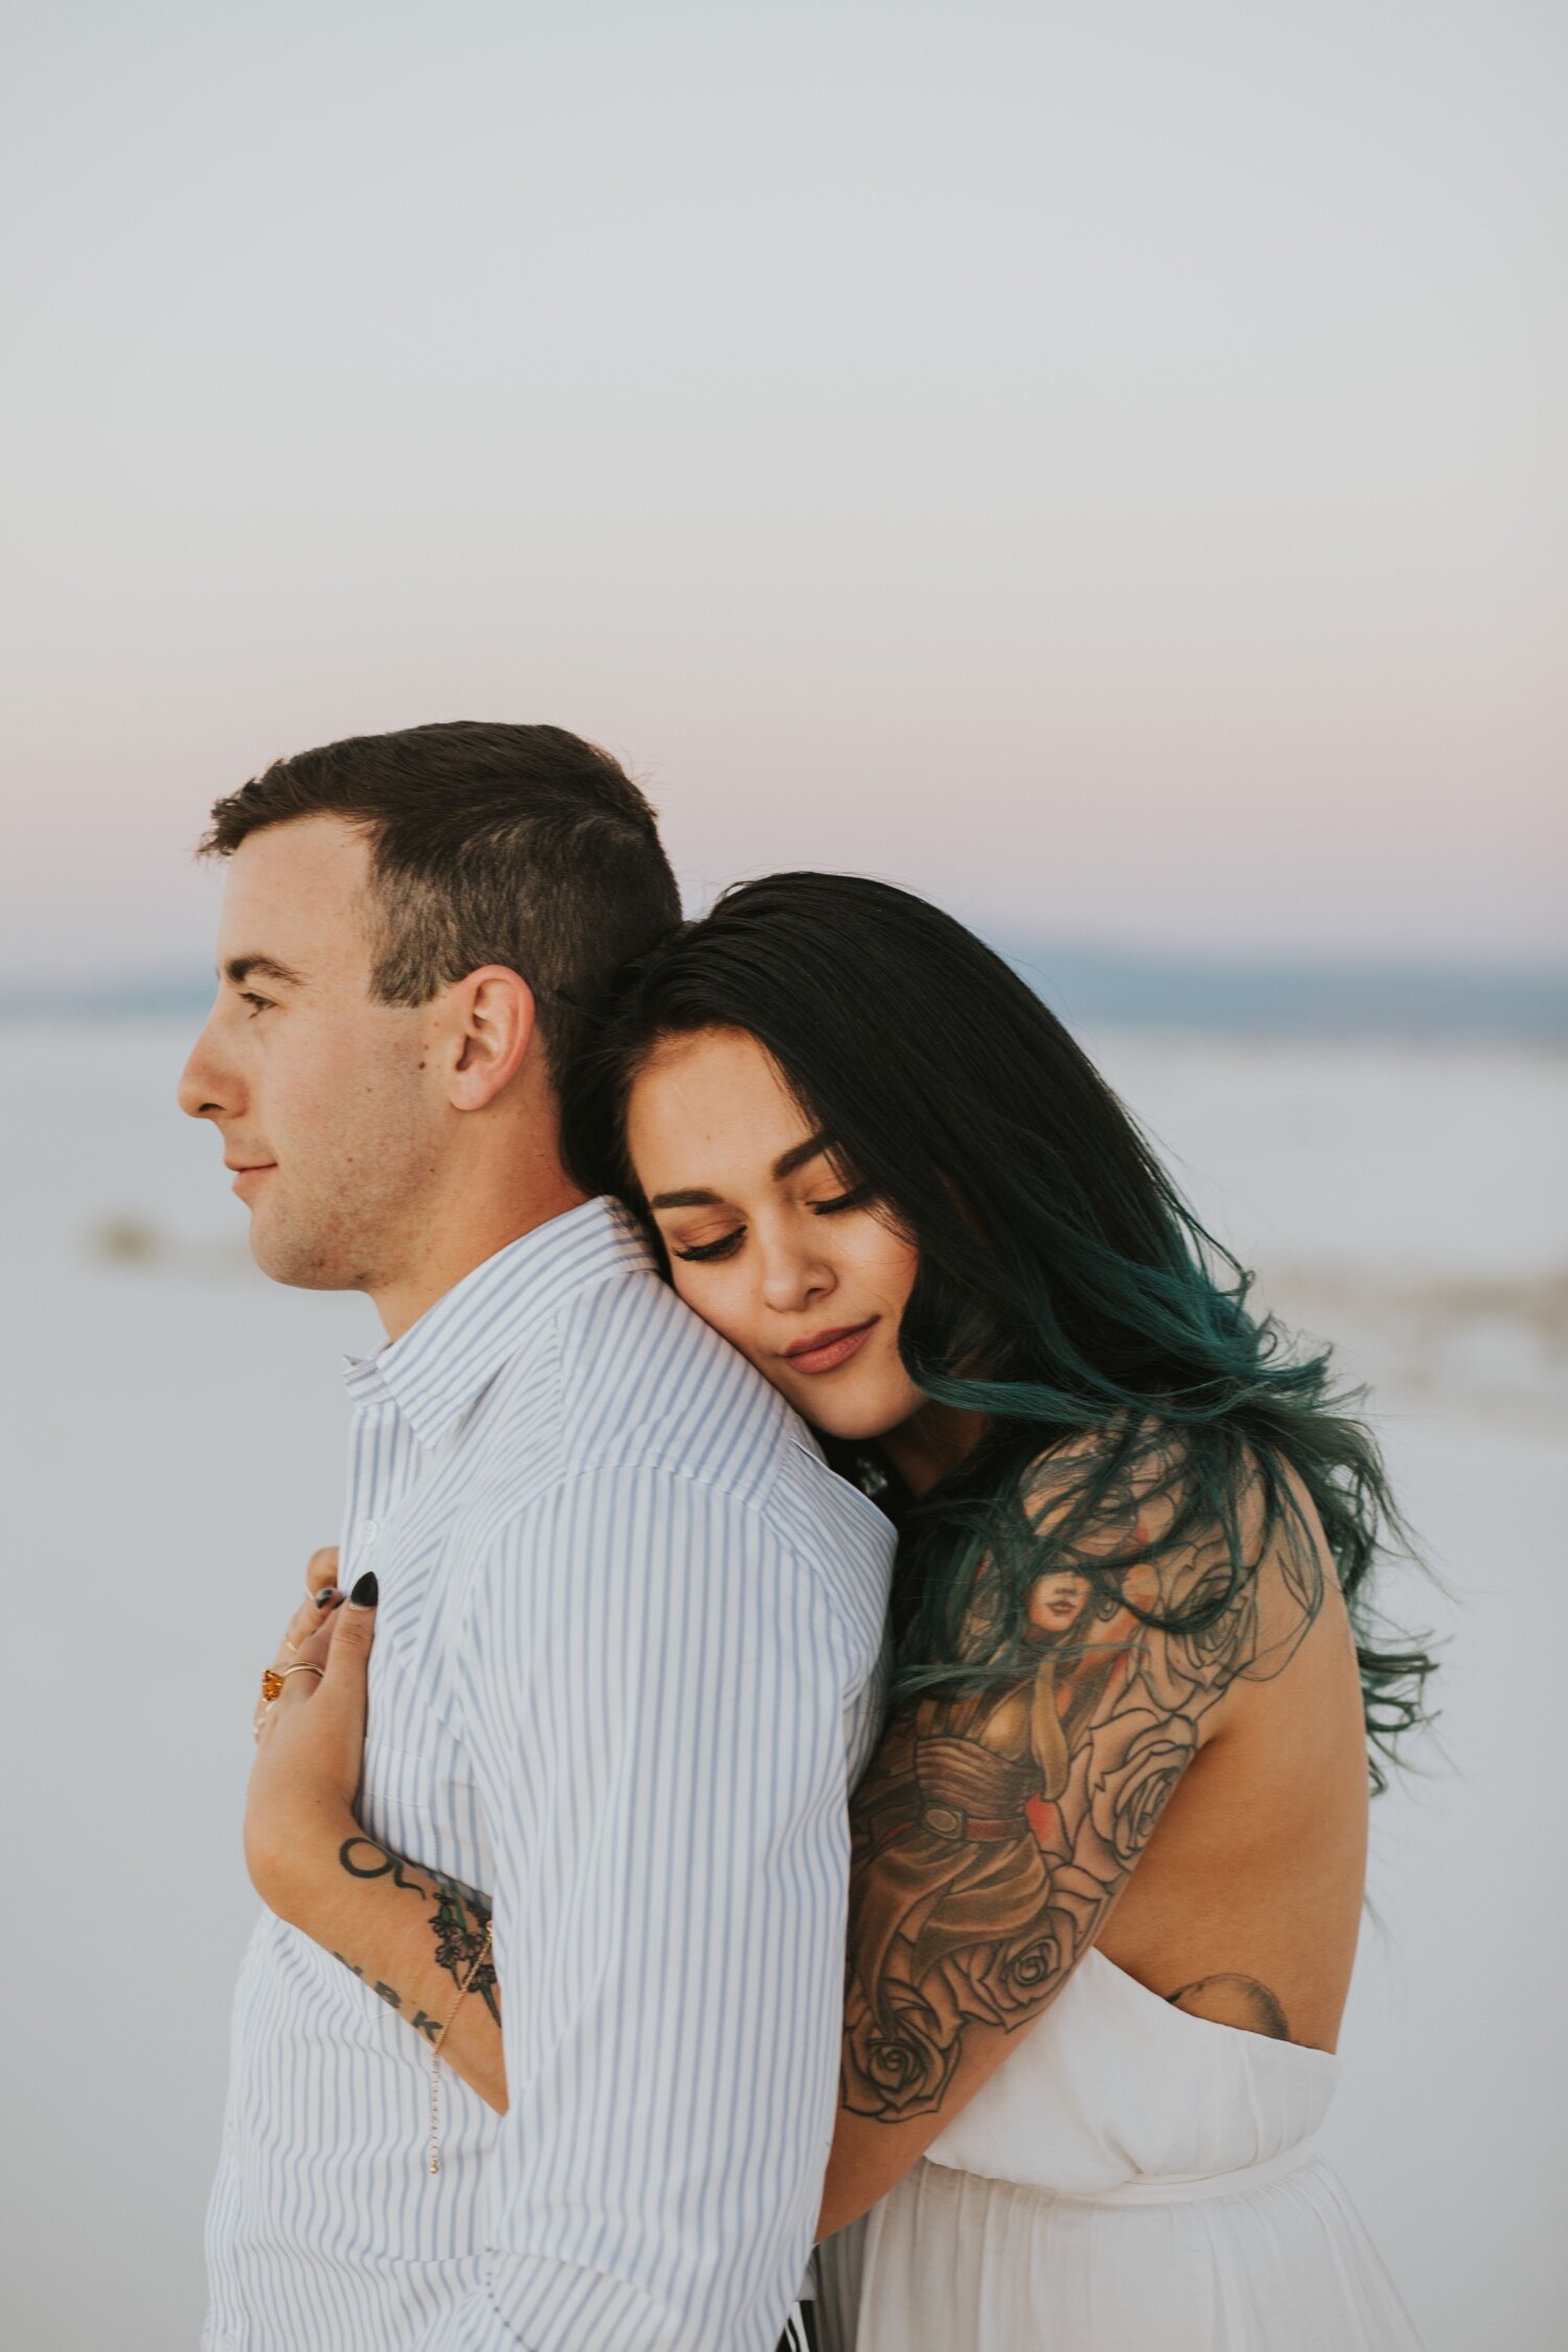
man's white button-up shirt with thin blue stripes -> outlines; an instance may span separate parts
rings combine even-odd
[[[360,1818],[494,1891],[510,2110],[263,1915],[209,2352],[771,2352],[832,2138],[882,1515],[588,1202],[350,1367]]]

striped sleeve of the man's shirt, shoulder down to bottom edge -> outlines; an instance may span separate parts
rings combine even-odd
[[[632,1468],[491,1545],[465,1649],[510,2107],[423,2352],[773,2352],[839,2072],[846,1630],[759,1510]]]

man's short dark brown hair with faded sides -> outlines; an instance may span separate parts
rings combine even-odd
[[[616,969],[679,922],[654,809],[562,727],[449,720],[275,760],[212,809],[202,856],[341,816],[371,844],[371,990],[425,1004],[480,964],[522,974],[557,1089]]]

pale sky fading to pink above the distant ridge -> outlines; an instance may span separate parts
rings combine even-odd
[[[7,40],[0,981],[205,967],[209,800],[435,717],[691,901],[1561,960],[1559,0]]]

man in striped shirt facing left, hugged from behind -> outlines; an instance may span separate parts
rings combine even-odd
[[[263,1272],[362,1289],[388,1334],[348,1374],[357,1804],[317,1856],[256,1832],[252,1872],[275,1910],[306,1867],[451,1886],[428,1969],[447,2023],[498,1992],[510,2086],[496,2117],[442,2067],[433,2150],[435,2016],[263,1915],[207,2345],[771,2352],[832,2136],[891,1543],[562,1164],[592,1007],[677,920],[654,814],[559,729],[444,724],[277,762],[205,847],[181,1103]],[[282,1731],[327,1684],[268,1689]]]

